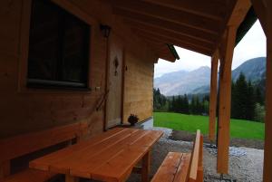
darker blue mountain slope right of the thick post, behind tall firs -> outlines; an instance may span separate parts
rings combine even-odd
[[[236,81],[240,72],[243,72],[246,79],[252,82],[260,81],[265,76],[266,72],[266,57],[258,57],[242,63],[232,71],[232,80]]]

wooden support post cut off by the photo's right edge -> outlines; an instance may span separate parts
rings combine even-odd
[[[266,11],[266,10],[264,10]],[[272,2],[267,0],[267,84],[264,182],[272,180]]]

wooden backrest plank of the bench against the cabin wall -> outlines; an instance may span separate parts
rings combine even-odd
[[[1,139],[0,148],[3,149],[0,150],[0,161],[24,156],[63,141],[76,139],[77,136],[81,136],[87,129],[87,125],[78,122],[54,129],[18,135],[9,139]]]

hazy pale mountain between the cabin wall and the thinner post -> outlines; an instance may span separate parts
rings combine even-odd
[[[154,79],[154,87],[166,96],[189,93],[209,84],[210,69],[208,66],[200,67],[191,72],[170,72]]]

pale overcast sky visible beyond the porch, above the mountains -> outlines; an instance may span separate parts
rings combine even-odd
[[[167,72],[180,70],[192,71],[198,69],[200,66],[210,67],[209,56],[194,53],[180,47],[176,47],[176,50],[180,55],[180,60],[176,62],[166,62],[160,59],[159,62],[155,64],[154,77],[160,77]],[[232,70],[248,59],[266,55],[266,36],[257,21],[234,49]]]

